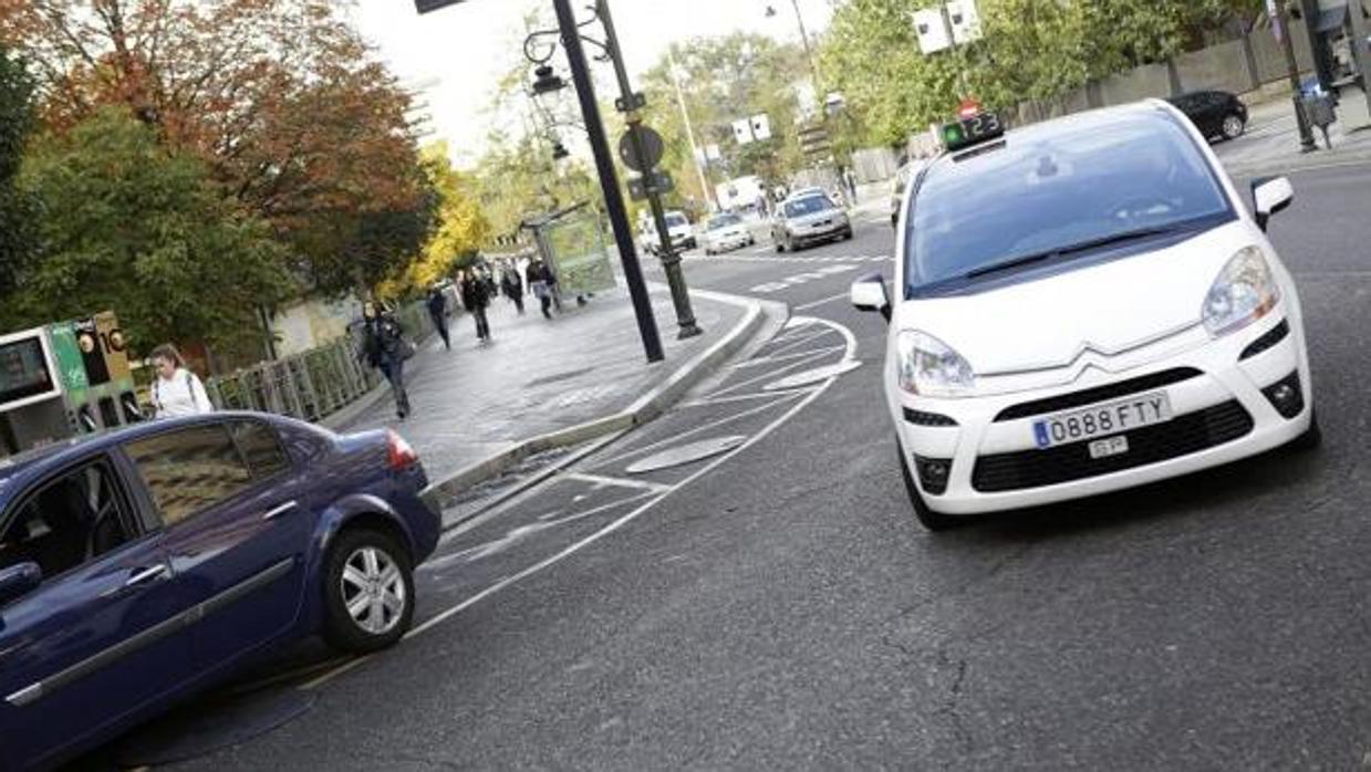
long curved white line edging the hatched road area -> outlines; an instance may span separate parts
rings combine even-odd
[[[851,333],[850,329],[847,329],[843,325],[839,325],[836,322],[831,322],[828,319],[816,318],[816,321],[818,324],[823,324],[825,326],[829,326],[829,328],[838,330],[843,336],[843,339],[847,341],[847,355],[845,358],[850,359],[850,358],[853,358],[857,354],[857,337]],[[469,609],[473,605],[484,601],[485,598],[489,598],[491,595],[495,595],[496,592],[505,590],[506,587],[509,587],[511,584],[522,581],[524,579],[526,579],[529,576],[540,573],[540,572],[546,570],[547,568],[554,566],[554,565],[562,562],[563,559],[569,558],[570,555],[574,555],[576,553],[584,550],[585,547],[588,547],[588,546],[599,542],[605,536],[609,536],[610,533],[614,533],[616,531],[624,528],[629,522],[632,522],[632,521],[638,520],[639,517],[642,517],[644,513],[650,511],[654,506],[657,506],[664,499],[666,499],[666,496],[670,496],[676,491],[679,491],[679,490],[690,485],[695,480],[699,480],[701,477],[709,474],[714,469],[718,469],[721,465],[724,465],[728,461],[731,461],[735,457],[738,457],[738,454],[743,453],[744,450],[753,447],[754,444],[757,444],[757,443],[762,442],[764,439],[766,439],[768,436],[771,436],[772,432],[775,432],[776,429],[779,429],[783,425],[786,425],[787,422],[790,422],[790,420],[794,418],[795,415],[798,415],[805,407],[809,407],[810,403],[813,403],[816,399],[818,399],[820,396],[823,396],[824,392],[827,392],[828,388],[831,385],[834,385],[834,383],[836,380],[838,380],[838,376],[834,376],[834,377],[831,377],[831,378],[828,378],[825,381],[821,381],[821,383],[816,384],[803,399],[801,399],[799,402],[797,402],[790,410],[787,410],[786,413],[783,413],[781,415],[779,415],[775,421],[772,421],[771,424],[766,424],[765,426],[762,426],[762,429],[758,431],[751,437],[749,437],[747,442],[744,442],[743,444],[738,446],[736,448],[728,451],[727,454],[720,455],[714,461],[710,461],[709,463],[706,463],[701,469],[695,470],[692,474],[687,476],[684,480],[676,483],[675,485],[670,485],[669,490],[666,490],[666,491],[664,491],[661,494],[647,494],[650,496],[648,500],[643,502],[640,506],[635,507],[632,511],[624,514],[618,520],[614,520],[613,522],[605,525],[603,528],[600,528],[599,531],[591,533],[590,536],[585,536],[584,539],[581,539],[581,540],[579,540],[579,542],[568,546],[566,548],[563,548],[563,550],[561,550],[561,551],[558,551],[558,553],[555,553],[555,554],[553,554],[553,555],[550,555],[550,557],[547,557],[547,558],[544,558],[544,559],[542,559],[542,561],[539,561],[539,562],[536,562],[536,564],[525,568],[524,570],[520,570],[518,573],[514,573],[513,576],[507,576],[507,577],[500,579],[499,581],[496,581],[496,583],[491,584],[489,587],[487,587],[485,590],[481,590],[480,592],[477,592],[477,594],[466,598],[465,601],[457,603],[455,606],[450,606],[447,610],[440,612],[440,613],[435,614],[433,617],[429,617],[426,621],[424,621],[418,627],[415,627],[415,628],[410,629],[407,634],[404,634],[404,639],[409,640],[411,638],[424,635],[425,632],[433,629],[435,627],[443,624],[444,621],[452,618],[454,616],[465,612],[466,609]],[[624,503],[624,502],[618,502],[618,503]],[[339,665],[337,668],[335,668],[335,669],[332,669],[332,671],[329,671],[329,672],[318,676],[317,679],[314,679],[314,680],[311,680],[311,681],[308,681],[306,684],[302,684],[299,688],[300,690],[314,690],[314,688],[318,688],[318,687],[326,684],[328,681],[336,679],[337,676],[341,676],[341,675],[344,675],[347,672],[351,672],[352,669],[358,668],[363,662],[372,660],[372,657],[374,657],[374,654],[366,654],[363,657],[358,657],[356,660],[351,660],[348,662],[344,662],[344,664]]]

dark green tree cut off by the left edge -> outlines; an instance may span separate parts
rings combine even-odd
[[[15,185],[15,174],[33,130],[33,81],[23,63],[0,47],[0,295],[33,258],[37,207]]]

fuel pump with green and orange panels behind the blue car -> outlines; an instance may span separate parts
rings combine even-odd
[[[112,313],[0,336],[0,455],[141,420]]]

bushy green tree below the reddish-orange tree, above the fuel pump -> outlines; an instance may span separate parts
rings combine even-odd
[[[144,351],[163,340],[245,350],[262,343],[258,309],[293,291],[267,228],[126,110],[40,137],[21,185],[43,202],[44,256],[0,303],[12,326],[111,309]]]

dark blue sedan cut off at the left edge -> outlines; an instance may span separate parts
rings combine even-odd
[[[437,546],[393,432],[254,413],[0,461],[0,767],[47,768],[321,634],[384,649]]]

